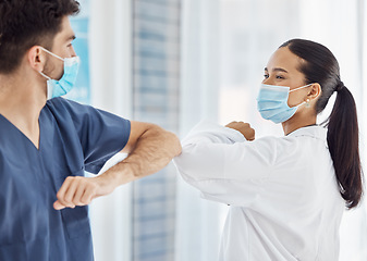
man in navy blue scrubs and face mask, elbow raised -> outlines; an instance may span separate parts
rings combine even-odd
[[[60,98],[74,0],[0,1],[0,260],[91,261],[87,204],[181,152],[172,133]],[[122,86],[123,87],[123,86]],[[129,157],[96,177],[119,151]]]

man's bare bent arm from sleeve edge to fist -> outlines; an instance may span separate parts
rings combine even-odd
[[[158,172],[181,153],[181,144],[174,134],[151,124],[145,127],[129,146],[129,157],[103,174],[96,177],[69,176],[58,191],[53,208],[61,210],[89,204],[120,185]]]

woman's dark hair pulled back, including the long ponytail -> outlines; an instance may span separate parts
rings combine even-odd
[[[323,124],[328,126],[328,146],[340,192],[346,208],[352,209],[358,206],[363,196],[358,121],[353,96],[341,82],[338,61],[328,48],[303,39],[289,40],[282,47],[288,47],[303,60],[298,71],[305,75],[306,84],[320,84],[317,114],[326,108],[331,95],[334,91],[338,94],[332,112]]]

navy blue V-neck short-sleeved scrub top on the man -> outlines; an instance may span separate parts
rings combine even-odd
[[[68,176],[97,174],[130,122],[63,98],[39,115],[39,149],[0,114],[0,260],[93,261],[87,207],[54,210]]]

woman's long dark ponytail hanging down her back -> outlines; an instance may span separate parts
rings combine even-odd
[[[340,192],[346,208],[358,206],[363,196],[363,174],[356,105],[351,91],[342,82],[337,87],[337,100],[329,119],[328,146],[335,169]]]

